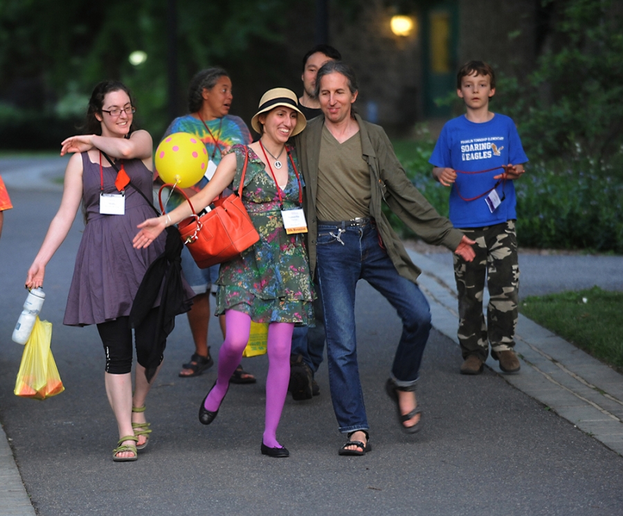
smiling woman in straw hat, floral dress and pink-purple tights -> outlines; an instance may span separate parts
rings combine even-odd
[[[292,330],[296,323],[307,324],[313,319],[304,234],[297,232],[306,231],[300,222],[303,177],[287,144],[305,124],[293,91],[267,91],[251,120],[260,139],[251,145],[234,145],[210,182],[190,199],[201,211],[226,187],[237,190],[248,154],[242,200],[260,241],[221,265],[217,314],[225,314],[226,337],[219,351],[218,378],[201,403],[199,420],[209,425],[216,418],[229,379],[249,341],[251,321],[269,323],[266,419],[260,450],[272,457],[289,456],[278,443],[276,432],[288,389]],[[166,226],[191,213],[185,203],[167,215],[145,220],[138,226],[141,231],[134,238],[134,247],[147,247]]]

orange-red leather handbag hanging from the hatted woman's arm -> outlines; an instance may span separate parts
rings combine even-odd
[[[247,150],[237,194],[234,192],[228,197],[219,195],[213,203],[215,207],[201,217],[195,212],[188,195],[178,190],[186,197],[192,209],[192,215],[178,224],[179,234],[201,269],[231,260],[260,240],[258,230],[242,204],[242,186],[248,161]],[[160,188],[158,198],[162,213],[165,213],[162,204],[162,190],[165,186],[174,185],[165,184]]]

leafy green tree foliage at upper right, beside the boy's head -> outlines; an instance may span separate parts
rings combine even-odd
[[[558,3],[548,48],[527,78],[499,81],[494,110],[512,116],[534,160],[620,159],[623,9],[613,0]]]

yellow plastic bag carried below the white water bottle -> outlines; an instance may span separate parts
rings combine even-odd
[[[33,332],[24,346],[24,355],[21,355],[15,395],[45,400],[65,390],[50,350],[51,341],[52,323],[39,321],[37,316]]]

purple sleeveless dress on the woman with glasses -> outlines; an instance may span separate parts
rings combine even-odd
[[[152,172],[140,159],[123,162],[132,184],[152,198]],[[102,157],[104,192],[114,193],[117,172]],[[82,152],[82,204],[87,225],[75,258],[63,323],[85,326],[129,315],[147,267],[162,253],[166,233],[147,249],[134,249],[132,238],[154,210],[132,186],[125,188],[125,215],[100,215],[100,165]],[[160,299],[155,306],[159,306]]]

